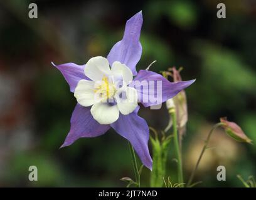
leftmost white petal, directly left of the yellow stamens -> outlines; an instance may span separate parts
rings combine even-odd
[[[74,96],[81,106],[92,106],[100,101],[99,96],[95,93],[94,81],[81,80],[75,88]]]

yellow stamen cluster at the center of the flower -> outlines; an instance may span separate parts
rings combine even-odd
[[[102,81],[100,81],[99,86],[94,90],[94,93],[100,94],[100,98],[106,100],[113,98],[116,91],[114,84],[109,82],[109,79],[104,76]]]

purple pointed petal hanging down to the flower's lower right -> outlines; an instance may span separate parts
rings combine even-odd
[[[137,115],[139,106],[128,115],[120,114],[119,119],[111,127],[132,144],[144,166],[152,170],[152,159],[147,143],[149,141],[149,128],[145,119]]]

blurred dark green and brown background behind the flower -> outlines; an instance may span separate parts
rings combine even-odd
[[[28,5],[38,5],[38,19],[29,19]],[[227,7],[227,18],[216,17],[216,4]],[[256,2],[230,1],[0,1],[0,186],[114,186],[134,178],[127,141],[113,130],[99,138],[79,139],[59,149],[70,128],[76,101],[60,72],[51,66],[85,64],[107,56],[122,38],[125,21],[144,16],[143,53],[137,69],[152,61],[152,71],[183,66],[189,121],[183,140],[184,173],[188,179],[206,133],[221,116],[238,123],[256,141]],[[158,130],[168,124],[165,106],[139,114]],[[230,139],[218,130],[195,181],[203,187],[239,187],[256,176],[256,148]],[[168,176],[176,183],[173,148]],[[38,168],[38,181],[28,168]],[[227,181],[216,180],[224,165]],[[142,186],[149,186],[149,170]]]

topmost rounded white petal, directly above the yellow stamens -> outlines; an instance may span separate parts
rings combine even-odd
[[[93,57],[85,64],[85,76],[92,81],[101,81],[103,76],[109,76],[111,73],[109,61],[102,56]]]

